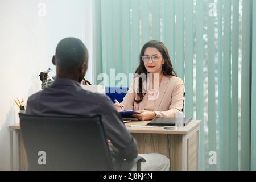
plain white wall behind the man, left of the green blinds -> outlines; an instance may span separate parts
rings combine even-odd
[[[43,7],[46,5],[44,16]],[[13,99],[40,90],[39,73],[51,63],[57,43],[68,36],[81,39],[89,51],[85,78],[92,81],[93,0],[0,0],[0,170],[12,168],[11,131],[19,122]]]

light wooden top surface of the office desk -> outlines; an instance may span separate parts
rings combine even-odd
[[[154,127],[130,127],[129,125],[147,125],[147,123],[150,121],[134,121],[134,122],[127,122],[125,123],[127,130],[130,131],[130,133],[151,133],[151,134],[176,134],[176,135],[186,135],[190,133],[193,129],[198,127],[200,125],[199,120],[192,120],[188,123],[183,129],[177,129],[177,130],[167,130],[164,129],[162,126],[154,126]],[[169,126],[167,126],[169,127]],[[9,129],[11,130],[19,130],[19,125],[13,125],[9,126]]]

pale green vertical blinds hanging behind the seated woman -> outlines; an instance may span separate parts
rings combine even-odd
[[[94,82],[102,81],[100,73],[110,76],[111,69],[134,73],[143,44],[161,40],[185,84],[185,115],[203,121],[200,169],[255,169],[255,4],[96,0]],[[209,164],[210,151],[216,152],[217,164]]]

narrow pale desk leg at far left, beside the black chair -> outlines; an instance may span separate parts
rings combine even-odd
[[[19,171],[19,133],[13,130],[13,170]]]

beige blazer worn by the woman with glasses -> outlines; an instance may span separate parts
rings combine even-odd
[[[144,88],[146,88],[145,83],[146,81],[143,82]],[[144,110],[148,100],[148,93],[145,94],[142,102],[137,104],[135,102],[135,99],[138,100],[137,88],[138,78],[134,78],[125,98],[123,98],[122,104],[126,110]],[[159,86],[158,98],[154,104],[156,117],[175,117],[175,113],[182,110],[183,93],[184,84],[180,78],[176,76],[163,76]]]

